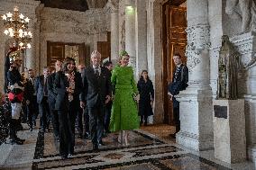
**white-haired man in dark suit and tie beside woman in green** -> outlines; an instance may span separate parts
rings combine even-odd
[[[83,91],[80,97],[81,107],[87,104],[90,120],[90,135],[93,149],[104,145],[102,136],[104,132],[105,104],[109,103],[112,94],[110,74],[107,68],[101,67],[101,54],[93,51],[91,54],[92,66],[87,67],[82,74]]]

